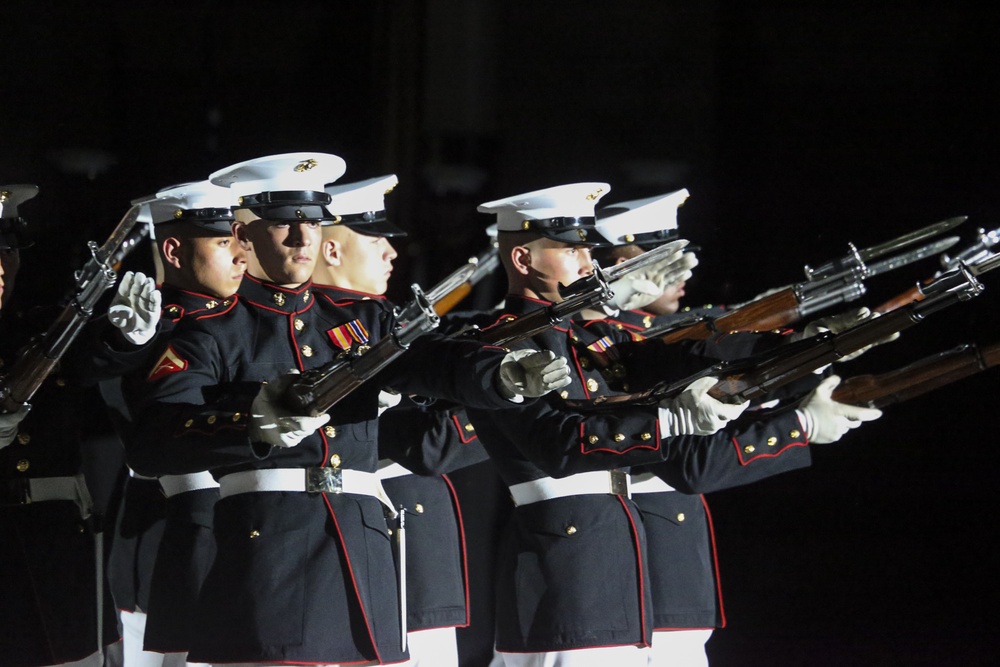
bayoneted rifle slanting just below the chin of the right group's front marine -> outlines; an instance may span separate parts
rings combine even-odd
[[[486,329],[473,328],[463,332],[463,334],[472,335],[486,345],[498,347],[507,347],[526,338],[531,338],[550,329],[563,318],[587,308],[599,307],[614,296],[610,283],[669,257],[687,244],[688,242],[684,240],[671,241],[616,264],[610,269],[604,269],[597,262],[594,262],[593,273],[580,278],[569,287],[560,289],[562,301],[533,310],[520,317],[510,317]]]

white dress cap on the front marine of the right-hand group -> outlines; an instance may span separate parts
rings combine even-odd
[[[594,206],[611,190],[607,183],[572,183],[480,204],[497,216],[499,232],[534,232],[581,245],[606,243],[595,229]]]

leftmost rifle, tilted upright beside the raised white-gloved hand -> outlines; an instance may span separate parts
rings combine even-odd
[[[20,354],[10,373],[0,379],[0,410],[14,412],[35,395],[93,315],[98,299],[115,284],[117,275],[111,262],[135,226],[140,208],[130,208],[103,245],[87,243],[90,259],[74,274],[76,287],[69,302],[41,338]]]

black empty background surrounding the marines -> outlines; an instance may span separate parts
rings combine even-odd
[[[610,183],[605,204],[691,191],[690,305],[954,215],[969,243],[1000,226],[1000,9],[979,4],[6,0],[0,183],[41,188],[19,291],[61,296],[135,197],[306,150],[344,182],[399,175],[397,295],[485,247],[478,203],[576,181]],[[992,341],[983,281],[843,374]],[[996,396],[981,374],[713,495],[713,665],[997,664]]]

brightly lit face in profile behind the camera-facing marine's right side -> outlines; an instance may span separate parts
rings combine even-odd
[[[363,292],[385,294],[392,275],[392,260],[396,249],[385,236],[360,234],[350,227],[330,230],[329,239],[337,244],[335,263],[328,268],[330,283],[337,287]]]

